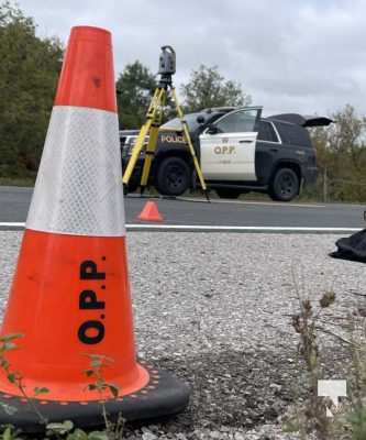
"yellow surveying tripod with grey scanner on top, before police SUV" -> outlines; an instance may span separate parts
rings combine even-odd
[[[143,194],[145,187],[148,184],[148,176],[149,176],[149,170],[152,167],[152,162],[155,155],[156,151],[156,144],[157,144],[157,136],[159,132],[159,128],[163,123],[163,116],[164,116],[164,108],[167,103],[167,100],[170,98],[175,103],[176,111],[178,114],[178,118],[180,120],[185,138],[188,144],[189,152],[192,156],[195,169],[197,173],[197,176],[199,178],[201,188],[203,193],[206,194],[206,197],[208,198],[208,193],[207,193],[207,186],[204,183],[203,174],[201,172],[200,165],[198,163],[198,158],[196,155],[196,151],[189,134],[189,128],[188,124],[185,120],[184,112],[181,110],[181,107],[178,103],[178,98],[176,94],[176,89],[173,86],[173,79],[171,76],[176,73],[176,53],[171,46],[163,46],[162,47],[162,54],[159,58],[159,70],[158,74],[160,75],[160,80],[158,82],[157,88],[155,89],[153,99],[149,103],[147,113],[146,113],[146,122],[142,125],[138,136],[136,139],[135,144],[133,145],[132,152],[131,152],[131,157],[129,160],[127,166],[124,170],[123,174],[123,185],[127,186],[130,178],[132,176],[132,173],[136,166],[137,160],[140,157],[140,153],[143,150],[144,145],[146,144],[145,140],[146,136],[148,136],[147,145],[146,145],[146,151],[145,151],[145,157],[144,157],[144,165],[142,169],[142,176],[141,176],[141,194]]]

